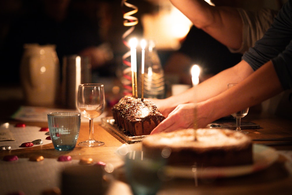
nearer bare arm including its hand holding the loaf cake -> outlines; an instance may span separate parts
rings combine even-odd
[[[239,64],[246,62],[241,61]],[[197,104],[187,103],[177,106],[151,134],[194,127],[195,108],[197,108],[197,127],[204,128],[218,118],[256,105],[281,91],[283,88],[272,62],[269,61],[232,89]]]

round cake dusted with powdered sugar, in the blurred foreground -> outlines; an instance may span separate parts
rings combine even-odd
[[[142,140],[145,156],[161,155],[163,149],[171,151],[169,165],[206,167],[253,163],[251,139],[228,129],[184,129],[149,135]]]

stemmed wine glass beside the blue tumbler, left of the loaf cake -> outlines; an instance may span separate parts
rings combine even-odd
[[[89,119],[89,139],[79,146],[96,147],[105,143],[94,139],[93,119],[105,110],[105,91],[103,84],[80,84],[78,86],[77,107],[81,115]]]

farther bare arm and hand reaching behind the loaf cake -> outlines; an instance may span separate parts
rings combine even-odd
[[[151,101],[167,117],[179,104],[205,101],[224,92],[228,83],[239,83],[252,73],[251,66],[245,61],[241,61],[239,64],[218,73],[182,94],[166,99],[151,99]]]

